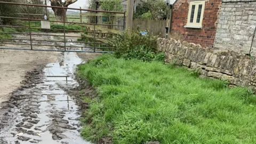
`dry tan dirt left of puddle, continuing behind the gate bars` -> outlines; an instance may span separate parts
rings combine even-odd
[[[63,35],[58,33],[49,33],[49,35]],[[67,36],[81,36],[81,34],[69,33]],[[29,39],[28,35],[14,35],[14,38]],[[33,36],[32,39],[40,40],[58,40],[62,37],[53,36]],[[76,41],[77,37],[71,37],[69,41]],[[28,41],[17,41],[17,44],[29,43]],[[51,42],[34,42],[34,44],[47,44]],[[55,43],[61,45],[61,43]],[[1,45],[1,47],[26,48],[24,45]],[[29,47],[29,46],[27,46]],[[53,46],[34,46],[35,49],[57,49]],[[1,103],[10,98],[10,93],[20,87],[20,82],[24,79],[26,71],[38,68],[47,63],[58,60],[60,52],[39,52],[39,51],[17,51],[17,50],[0,50],[0,108]],[[84,54],[83,54],[84,55]]]

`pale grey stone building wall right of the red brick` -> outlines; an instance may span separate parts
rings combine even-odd
[[[225,3],[230,1],[233,3]],[[222,1],[214,47],[256,55],[256,39],[250,51],[256,26],[256,2],[236,1]]]

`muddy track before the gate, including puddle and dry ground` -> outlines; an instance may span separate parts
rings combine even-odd
[[[67,90],[78,86],[76,65],[97,55],[1,50],[0,143],[89,143]]]

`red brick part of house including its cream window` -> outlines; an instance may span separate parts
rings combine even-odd
[[[213,47],[221,0],[177,0],[173,3],[171,34],[187,42]]]

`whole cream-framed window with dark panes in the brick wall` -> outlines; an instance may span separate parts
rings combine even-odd
[[[204,4],[204,1],[190,2],[186,28],[202,28]]]

